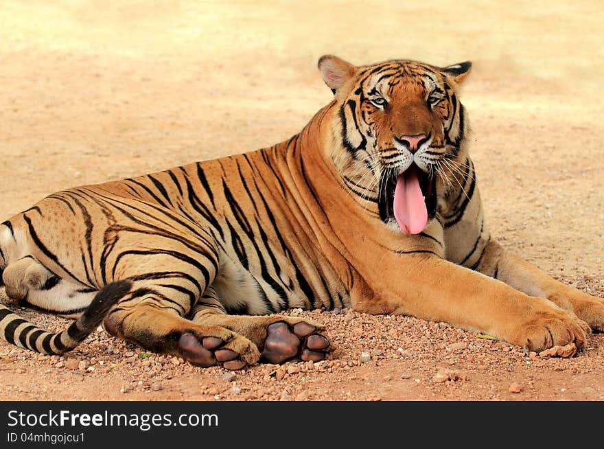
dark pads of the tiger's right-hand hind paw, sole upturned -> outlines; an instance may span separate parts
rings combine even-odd
[[[325,358],[329,345],[329,340],[310,323],[300,321],[290,326],[279,321],[266,329],[262,358],[270,363],[283,363],[294,357],[318,362]]]

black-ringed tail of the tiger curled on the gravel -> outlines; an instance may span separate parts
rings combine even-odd
[[[63,332],[42,330],[0,304],[0,336],[5,341],[42,354],[62,354],[78,346],[103,321],[119,299],[130,292],[131,281],[107,284],[94,297],[90,306]]]

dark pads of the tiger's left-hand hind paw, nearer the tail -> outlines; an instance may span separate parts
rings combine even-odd
[[[221,338],[207,336],[200,341],[197,336],[185,332],[178,340],[178,349],[187,362],[196,367],[222,365],[226,369],[242,369],[248,365],[240,354],[224,347]]]

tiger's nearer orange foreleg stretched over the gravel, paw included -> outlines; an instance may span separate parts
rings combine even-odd
[[[379,273],[367,269],[364,285],[356,281],[356,310],[446,321],[535,351],[571,342],[581,348],[590,332],[585,321],[548,299],[439,257],[387,253],[382,260]]]

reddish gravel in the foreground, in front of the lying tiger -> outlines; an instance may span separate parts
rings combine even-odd
[[[598,293],[604,297],[604,284]],[[102,331],[65,356],[34,354],[0,342],[0,369],[22,371],[0,376],[0,387],[5,400],[123,400],[124,395],[148,400],[150,391],[154,400],[505,400],[512,397],[513,381],[522,399],[557,400],[564,387],[567,399],[604,400],[599,393],[604,334],[593,334],[583,352],[564,358],[560,348],[555,357],[525,355],[520,347],[409,316],[348,309],[285,314],[292,313],[325,325],[334,346],[327,360],[259,364],[242,371],[203,369]],[[49,329],[71,323],[31,310],[20,314]],[[39,379],[44,390],[31,387],[41,384]]]

